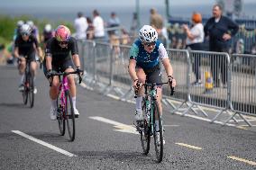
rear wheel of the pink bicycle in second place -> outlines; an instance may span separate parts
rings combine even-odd
[[[58,127],[59,133],[61,136],[65,135],[65,106],[61,104],[61,91],[59,91],[57,97],[57,120],[58,120]]]

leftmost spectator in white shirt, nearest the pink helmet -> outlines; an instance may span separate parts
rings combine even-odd
[[[78,13],[78,18],[75,19],[74,26],[76,29],[76,39],[86,40],[87,39],[87,19],[83,16],[83,13]]]

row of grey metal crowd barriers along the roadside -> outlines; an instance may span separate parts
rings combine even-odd
[[[118,96],[120,100],[133,99],[133,88],[128,74],[131,46],[112,46],[109,43],[84,41],[79,44],[80,55],[87,70],[86,84],[101,93]],[[168,97],[169,88],[163,88],[163,103],[171,112],[189,110],[208,117],[204,107],[213,107],[219,112],[211,122],[217,121],[224,112],[227,123],[238,115],[251,126],[244,114],[256,116],[256,56],[227,53],[167,49],[178,86],[176,94]],[[238,59],[239,58],[239,59]],[[238,61],[241,63],[239,63]],[[163,72],[163,79],[167,79]],[[195,84],[200,79],[201,84]],[[178,101],[178,107],[171,101]],[[184,107],[185,106],[185,107]],[[199,111],[199,112],[198,112]],[[223,118],[222,118],[223,119]]]

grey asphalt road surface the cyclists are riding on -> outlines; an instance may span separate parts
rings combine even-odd
[[[158,164],[153,144],[150,154],[142,155],[139,135],[130,126],[133,103],[81,86],[76,139],[69,142],[67,134],[59,136],[57,121],[50,121],[49,84],[41,70],[32,109],[23,105],[17,90],[16,68],[0,67],[0,72],[0,169],[256,169],[255,130],[168,112],[164,158]]]

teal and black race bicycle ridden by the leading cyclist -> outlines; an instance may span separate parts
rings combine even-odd
[[[137,130],[141,134],[143,154],[148,155],[151,145],[151,136],[154,138],[155,152],[157,161],[160,163],[163,157],[163,125],[162,117],[160,115],[159,104],[157,103],[157,86],[170,84],[171,82],[160,84],[142,84],[144,85],[144,96],[142,97],[142,114],[143,121],[138,121],[136,125]],[[138,84],[137,86],[140,86]],[[170,86],[170,95],[174,94],[174,87]],[[138,90],[135,90],[135,98],[137,97]],[[159,131],[156,130],[156,121],[159,122]],[[159,137],[158,137],[159,135]]]

